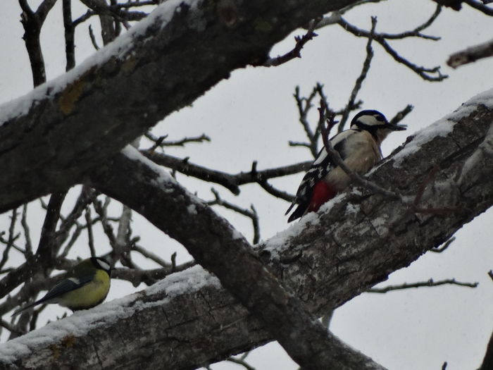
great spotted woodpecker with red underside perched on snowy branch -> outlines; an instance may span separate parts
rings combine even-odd
[[[361,111],[351,121],[351,128],[339,132],[330,139],[330,143],[352,171],[362,174],[382,159],[380,144],[390,132],[396,130],[406,128],[389,123],[379,111]],[[349,182],[347,173],[335,166],[325,147],[322,148],[301,180],[297,195],[286,211],[288,214],[298,204],[287,222],[296,220],[307,212],[318,211],[322,204],[335,197]]]

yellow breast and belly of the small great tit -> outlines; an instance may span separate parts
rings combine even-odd
[[[110,290],[110,276],[104,270],[97,270],[91,282],[65,293],[58,304],[73,311],[89,309],[104,301]]]

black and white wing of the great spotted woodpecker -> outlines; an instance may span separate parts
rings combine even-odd
[[[347,151],[344,150],[347,140],[356,132],[356,130],[345,130],[330,139],[330,144],[332,144],[332,147],[339,152],[342,159],[345,159],[347,156]],[[330,156],[327,154],[325,147],[323,147],[320,152],[318,152],[317,158],[313,161],[311,167],[308,168],[308,171],[306,171],[303,180],[301,180],[301,183],[299,184],[297,195],[291,206],[289,206],[289,209],[286,211],[286,214],[289,214],[289,211],[291,211],[294,205],[298,204],[297,209],[295,209],[291,216],[289,216],[287,222],[296,220],[304,215],[306,209],[308,209],[308,205],[311,202],[313,188],[320,180],[325,178],[327,173],[332,171],[332,168],[334,168],[334,164],[331,161]]]

